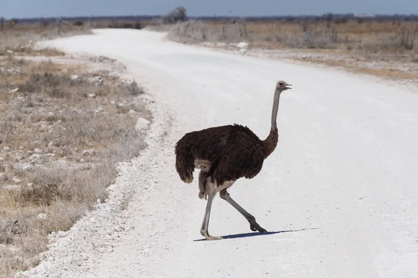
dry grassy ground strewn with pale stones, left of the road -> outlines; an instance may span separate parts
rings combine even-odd
[[[1,278],[38,264],[51,233],[105,202],[114,165],[145,147],[134,129],[138,118],[151,120],[137,83],[122,82],[101,63],[59,63],[53,56],[63,53],[28,42],[43,32],[36,30],[0,34]]]

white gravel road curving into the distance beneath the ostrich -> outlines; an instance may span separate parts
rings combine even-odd
[[[149,148],[121,167],[111,199],[52,245],[26,277],[418,277],[418,95],[343,72],[101,30],[49,42],[120,60],[155,101]],[[184,133],[238,122],[267,136],[274,85],[279,145],[231,196],[269,234],[217,197],[181,183]],[[167,130],[167,135],[164,135]],[[132,195],[119,212],[122,195]],[[228,236],[231,235],[231,236]],[[49,258],[49,259],[48,259]]]

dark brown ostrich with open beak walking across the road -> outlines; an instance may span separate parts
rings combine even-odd
[[[281,92],[288,90],[284,81],[277,82],[274,90],[272,122],[270,134],[260,140],[247,126],[239,124],[216,126],[201,131],[186,133],[175,147],[176,170],[180,179],[192,183],[194,169],[199,173],[199,198],[207,199],[205,216],[201,225],[201,235],[206,240],[222,239],[210,236],[208,232],[210,209],[216,193],[237,209],[249,222],[251,231],[266,232],[256,222],[256,218],[237,204],[226,191],[237,179],[255,177],[277,146],[277,110]]]

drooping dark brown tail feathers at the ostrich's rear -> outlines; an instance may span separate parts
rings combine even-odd
[[[194,158],[192,149],[184,138],[176,144],[176,170],[180,179],[185,183],[192,183],[194,172]]]

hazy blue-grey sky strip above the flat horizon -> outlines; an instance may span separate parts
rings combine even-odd
[[[418,0],[0,0],[0,16],[163,15],[180,5],[190,16],[418,14]]]

